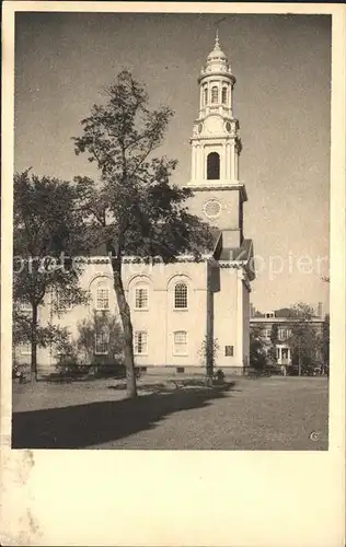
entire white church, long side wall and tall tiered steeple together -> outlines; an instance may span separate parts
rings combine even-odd
[[[250,283],[254,279],[253,243],[243,233],[247,200],[240,181],[239,121],[233,113],[235,77],[218,36],[198,77],[198,116],[191,139],[192,213],[212,226],[214,248],[198,263],[181,256],[175,264],[145,265],[124,257],[123,280],[131,310],[136,365],[151,372],[205,371],[203,347],[217,346],[215,366],[243,374],[250,356]],[[94,313],[114,314],[116,296],[109,259],[78,258],[84,265],[81,284],[90,292],[88,306],[76,306],[56,318],[71,339],[78,324]],[[49,305],[39,321],[51,321]],[[109,336],[95,333],[94,357],[108,354]],[[26,356],[27,356],[26,348]],[[23,360],[23,354],[16,358]],[[27,359],[27,357],[26,357]],[[54,371],[57,356],[39,348],[38,369]]]

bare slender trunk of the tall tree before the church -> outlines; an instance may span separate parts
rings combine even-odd
[[[124,331],[124,359],[126,369],[126,388],[130,398],[137,397],[136,373],[134,361],[132,324],[129,305],[125,298],[122,280],[122,258],[120,256],[112,260],[114,290],[119,309],[123,331]]]

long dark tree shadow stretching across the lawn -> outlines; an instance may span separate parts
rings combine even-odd
[[[136,399],[49,408],[12,416],[12,449],[83,449],[157,427],[173,412],[200,408],[230,386],[152,393]]]

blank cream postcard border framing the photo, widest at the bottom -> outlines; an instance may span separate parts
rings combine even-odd
[[[327,452],[9,449],[16,11],[332,14],[330,310],[333,371]],[[344,545],[345,36],[346,12],[338,4],[3,3],[0,525],[3,545]]]

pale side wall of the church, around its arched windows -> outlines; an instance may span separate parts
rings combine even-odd
[[[41,323],[51,321],[56,325],[68,327],[76,338],[78,324],[84,318],[92,318],[97,281],[106,280],[109,287],[109,312],[118,315],[116,295],[113,289],[113,276],[109,264],[89,264],[81,276],[81,287],[90,291],[89,305],[76,306],[61,317],[51,316],[50,298],[39,310]],[[207,265],[206,263],[184,263],[172,265],[124,264],[124,288],[131,309],[134,331],[148,331],[148,354],[136,356],[138,365],[199,365],[198,354],[206,335],[207,323]],[[184,280],[188,286],[188,310],[174,310],[174,286]],[[138,282],[149,287],[149,310],[134,310],[134,293]],[[188,354],[173,354],[174,330],[186,330]],[[28,356],[18,351],[20,360],[30,362]],[[49,348],[39,348],[37,362],[41,365],[54,365],[55,356]]]

